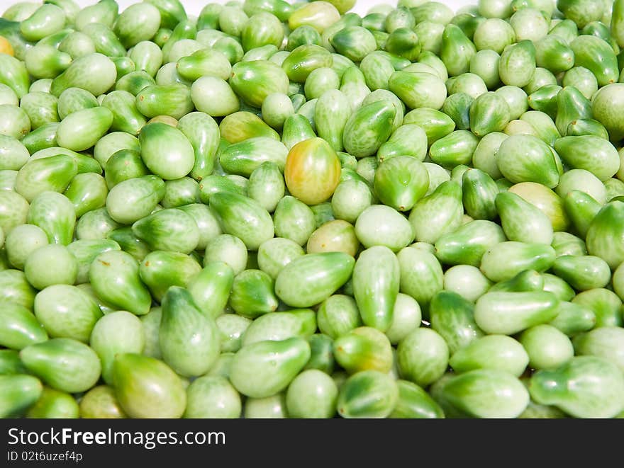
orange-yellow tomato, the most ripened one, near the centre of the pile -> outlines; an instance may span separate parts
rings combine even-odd
[[[304,139],[291,148],[284,178],[291,195],[306,205],[318,205],[330,198],[340,183],[340,160],[324,139]]]

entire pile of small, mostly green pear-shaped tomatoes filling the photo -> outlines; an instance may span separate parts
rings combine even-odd
[[[0,416],[624,417],[624,0],[21,1]]]

